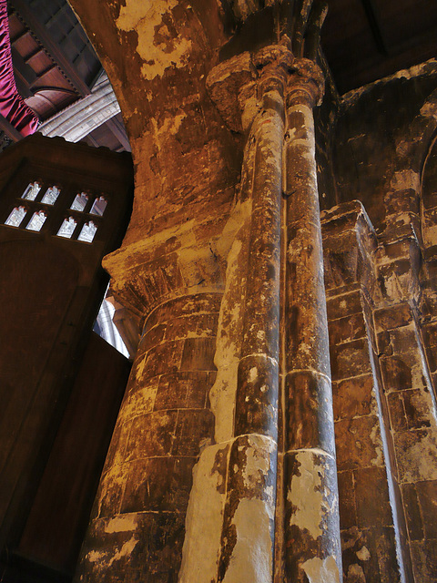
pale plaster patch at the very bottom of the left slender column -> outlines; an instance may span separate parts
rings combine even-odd
[[[237,542],[223,583],[271,583],[273,542],[270,529],[273,513],[274,509],[262,500],[240,501],[233,517]]]

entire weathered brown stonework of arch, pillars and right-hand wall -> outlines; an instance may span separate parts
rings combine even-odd
[[[437,67],[314,124],[323,11],[276,4],[73,2],[131,139],[104,264],[142,329],[77,582],[437,580]]]

